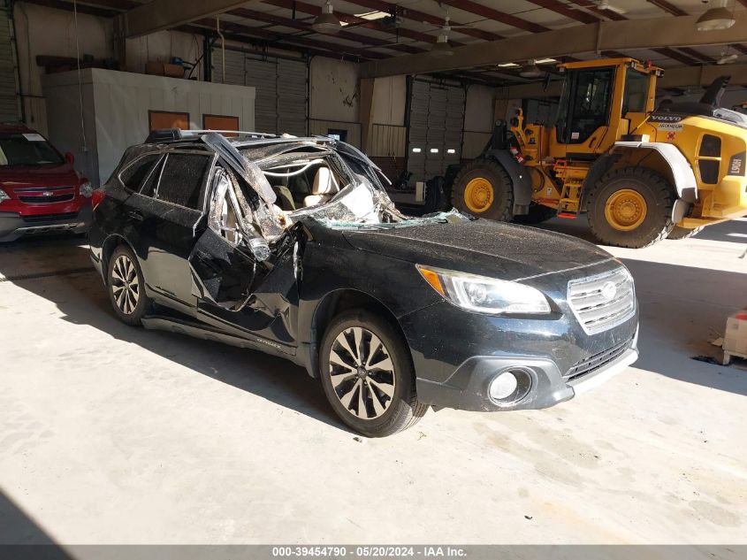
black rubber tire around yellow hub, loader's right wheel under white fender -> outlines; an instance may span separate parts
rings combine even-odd
[[[634,190],[643,197],[646,214],[635,229],[622,231],[606,219],[607,201],[618,191]],[[665,239],[675,227],[672,208],[675,189],[658,173],[644,167],[624,167],[606,173],[589,193],[587,211],[591,233],[599,242],[614,247],[641,249]]]

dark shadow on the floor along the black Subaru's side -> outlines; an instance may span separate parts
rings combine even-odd
[[[78,253],[88,254],[88,248],[72,247],[68,252],[72,253],[73,260],[78,260]],[[13,283],[55,303],[66,321],[94,326],[120,341],[137,344],[195,372],[349,432],[334,415],[319,381],[285,359],[121,323],[111,310],[101,277],[93,268],[89,272],[60,274],[48,279],[14,280]]]

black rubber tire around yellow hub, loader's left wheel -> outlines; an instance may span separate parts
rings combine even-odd
[[[465,192],[469,181],[484,179],[492,188],[492,203],[484,211],[469,208],[465,199]],[[464,211],[478,218],[495,219],[508,222],[514,217],[514,188],[508,173],[492,159],[476,159],[464,165],[454,177],[452,188],[452,204],[459,211]]]

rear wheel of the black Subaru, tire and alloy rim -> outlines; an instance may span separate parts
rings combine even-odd
[[[123,267],[123,263],[126,261],[122,259],[126,259],[132,265],[132,272],[134,273]],[[129,279],[128,282],[125,283],[121,280],[123,276]],[[135,279],[137,280],[136,284],[133,281]],[[145,280],[138,260],[133,255],[133,251],[126,245],[119,245],[109,257],[106,284],[109,290],[111,307],[119,320],[127,325],[141,325],[141,318],[148,314],[152,302],[148,295],[145,295]],[[126,300],[125,303],[123,303],[123,298]]]

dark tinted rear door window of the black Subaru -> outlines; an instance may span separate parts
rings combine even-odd
[[[200,210],[200,191],[212,157],[202,154],[169,154],[166,157],[156,198]]]

